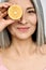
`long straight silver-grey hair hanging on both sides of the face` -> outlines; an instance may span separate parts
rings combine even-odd
[[[43,8],[42,8],[40,0],[32,0],[32,1],[34,3],[35,10],[36,10],[36,15],[37,15],[36,43],[40,46],[40,45],[43,45],[45,42]],[[7,33],[6,29],[4,29],[2,32],[0,32],[0,46],[2,48],[4,48],[4,47],[7,47],[10,45],[10,43],[11,43],[11,41],[10,41],[9,33]]]

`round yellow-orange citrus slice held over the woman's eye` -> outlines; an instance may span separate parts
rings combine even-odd
[[[19,19],[22,16],[22,10],[19,5],[14,4],[9,8],[7,14],[12,19]]]

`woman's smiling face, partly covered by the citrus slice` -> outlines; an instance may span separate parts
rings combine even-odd
[[[28,39],[36,28],[36,13],[30,0],[9,0],[22,9],[22,17],[7,27],[12,36],[18,39]]]

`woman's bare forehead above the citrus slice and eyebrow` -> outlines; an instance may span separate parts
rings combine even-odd
[[[9,0],[9,2],[12,2],[14,4],[19,4],[21,6],[33,6],[31,0]]]

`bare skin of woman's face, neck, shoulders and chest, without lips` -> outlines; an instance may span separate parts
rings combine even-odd
[[[46,50],[43,47],[36,47],[36,44],[31,38],[36,28],[36,14],[28,12],[34,11],[33,4],[30,2],[30,0],[9,0],[9,2],[20,5],[22,8],[24,15],[21,19],[12,23],[7,27],[12,34],[12,44],[10,48],[6,48],[0,53],[3,65],[6,66],[9,70],[45,69],[46,56],[42,56],[42,54],[43,52],[45,53]],[[27,12],[27,8],[29,6],[32,9],[28,10]],[[9,16],[7,19],[10,19]],[[26,32],[20,32],[16,28],[21,26],[29,26],[30,29]]]

